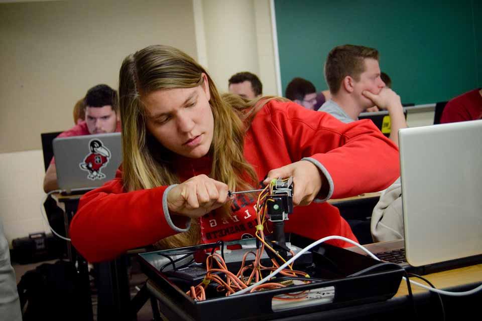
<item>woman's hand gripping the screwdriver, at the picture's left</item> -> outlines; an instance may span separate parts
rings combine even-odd
[[[206,175],[194,176],[169,191],[167,207],[171,214],[198,218],[226,203],[227,190]]]

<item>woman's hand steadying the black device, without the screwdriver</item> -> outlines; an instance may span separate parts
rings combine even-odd
[[[311,162],[299,161],[271,170],[264,184],[278,178],[293,177],[293,205],[308,205],[320,192],[323,183],[326,182],[324,175]]]

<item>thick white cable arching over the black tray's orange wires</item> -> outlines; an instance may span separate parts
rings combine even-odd
[[[304,249],[302,249],[301,251],[299,251],[295,256],[293,256],[291,259],[289,259],[286,263],[284,263],[283,265],[281,265],[279,268],[277,268],[273,273],[271,273],[270,275],[264,277],[263,279],[261,279],[259,282],[256,282],[255,284],[243,289],[243,290],[240,290],[240,291],[237,291],[235,293],[232,293],[230,294],[230,296],[232,295],[239,295],[239,294],[243,294],[243,293],[246,293],[246,292],[249,292],[251,289],[253,289],[254,287],[264,283],[265,281],[271,279],[273,276],[275,276],[276,274],[278,274],[281,270],[283,270],[284,268],[286,268],[288,265],[290,265],[293,261],[295,261],[296,259],[298,259],[301,255],[303,255],[305,252],[307,252],[309,249],[311,249],[312,247],[315,247],[316,245],[318,244],[321,244],[325,241],[328,241],[328,240],[342,240],[342,241],[345,241],[345,242],[348,242],[348,243],[351,243],[353,245],[356,245],[357,247],[359,247],[360,249],[362,249],[365,253],[367,253],[368,255],[370,255],[372,258],[376,259],[377,261],[380,261],[380,259],[378,257],[376,257],[372,252],[370,252],[369,250],[367,250],[364,246],[350,240],[350,239],[347,239],[346,237],[342,237],[342,236],[337,236],[337,235],[333,235],[333,236],[327,236],[327,237],[324,237],[322,239],[319,239],[318,241],[315,241],[313,243],[311,243],[310,245],[308,245],[307,247],[305,247]],[[402,277],[404,280],[406,280],[405,277]],[[418,285],[420,287],[423,287],[429,291],[432,291],[432,292],[436,292],[436,293],[440,293],[440,294],[445,294],[445,295],[451,295],[451,296],[464,296],[464,295],[470,295],[470,294],[473,294],[479,290],[482,289],[482,284],[477,286],[476,288],[474,289],[471,289],[469,291],[464,291],[464,292],[450,292],[450,291],[444,291],[444,290],[439,290],[439,289],[434,289],[432,287],[428,287],[426,285],[423,285],[423,284],[420,284],[418,282],[415,282],[415,281],[412,281],[409,279],[409,281],[415,285]]]

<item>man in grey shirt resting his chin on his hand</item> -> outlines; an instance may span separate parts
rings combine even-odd
[[[391,120],[390,139],[398,146],[398,129],[407,127],[400,96],[380,78],[376,49],[343,45],[333,48],[326,58],[325,79],[331,99],[319,111],[330,113],[342,122],[358,120],[372,106],[387,109]]]

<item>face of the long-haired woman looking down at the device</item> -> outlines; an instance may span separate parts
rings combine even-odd
[[[209,84],[194,88],[161,89],[142,100],[147,110],[147,129],[169,150],[190,158],[207,154],[214,132],[209,105]]]

